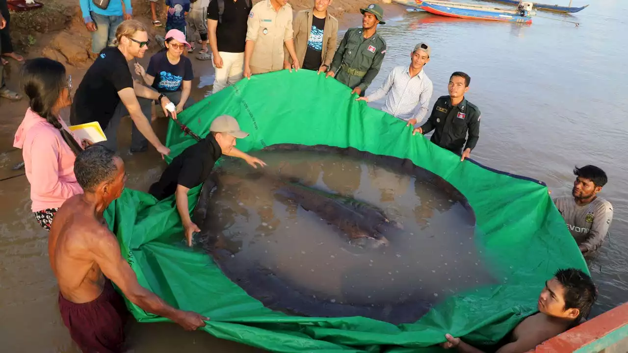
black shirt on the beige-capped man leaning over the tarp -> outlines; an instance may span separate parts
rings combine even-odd
[[[156,199],[163,200],[176,192],[176,185],[197,187],[205,182],[220,156],[222,150],[210,133],[176,156],[148,192]]]

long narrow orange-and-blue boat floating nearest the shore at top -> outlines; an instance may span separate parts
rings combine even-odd
[[[428,13],[438,14],[440,16],[468,18],[468,19],[487,19],[490,21],[504,21],[516,23],[532,23],[532,3],[524,3],[520,9],[509,10],[495,8],[490,6],[452,3],[450,1],[438,0],[393,0],[396,3],[411,6],[413,8],[422,9]]]

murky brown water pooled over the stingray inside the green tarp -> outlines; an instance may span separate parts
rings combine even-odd
[[[225,160],[211,196],[203,192],[203,246],[249,295],[297,315],[405,323],[448,296],[494,283],[475,244],[474,212],[445,180],[396,158],[300,149],[259,151],[263,171]],[[381,209],[391,221],[382,231],[389,244],[350,244],[328,222],[337,209],[317,213],[278,197],[280,177]]]

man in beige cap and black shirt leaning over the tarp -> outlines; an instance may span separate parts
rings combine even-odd
[[[190,218],[188,191],[205,182],[220,156],[242,158],[253,168],[257,168],[257,165],[266,165],[262,160],[249,156],[235,147],[237,138],[246,138],[249,134],[240,129],[234,117],[228,115],[217,117],[212,121],[209,131],[205,138],[176,156],[163,171],[160,180],[151,185],[148,191],[158,200],[175,194],[176,209],[183,222],[188,246],[192,246],[193,233],[200,232]]]

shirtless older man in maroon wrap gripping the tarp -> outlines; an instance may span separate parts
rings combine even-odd
[[[112,282],[146,312],[169,318],[186,330],[205,326],[203,320],[208,318],[176,310],[139,285],[122,258],[116,236],[102,215],[124,188],[122,159],[104,146],[91,146],[77,156],[74,173],[84,193],[68,198],[55,215],[48,256],[59,285],[63,323],[80,349],[122,350],[128,312]]]

